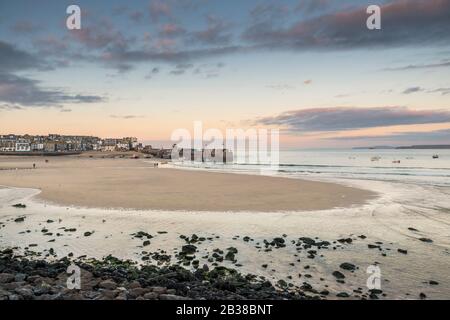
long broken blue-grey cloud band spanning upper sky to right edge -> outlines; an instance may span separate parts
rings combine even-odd
[[[325,6],[326,2],[319,1],[314,5]],[[312,2],[303,1],[303,6],[307,3],[309,8]],[[150,15],[155,19],[167,18],[166,26],[173,27],[176,19],[172,19],[171,8],[176,5],[179,6],[174,1],[152,1]],[[321,12],[313,7],[310,10]],[[341,7],[340,11],[334,13],[309,19],[303,17],[289,23],[292,17],[287,18],[290,11],[286,7],[266,4],[251,11],[250,25],[239,31],[240,34],[232,32],[229,24],[220,18],[208,16],[208,24],[204,30],[183,30],[180,33],[175,32],[180,28],[167,28],[165,33],[169,32],[169,36],[159,34],[159,38],[153,39],[154,43],[170,43],[167,46],[140,45],[136,43],[136,38],[125,37],[113,27],[87,27],[77,37],[90,49],[87,51],[87,61],[100,62],[120,70],[129,70],[136,64],[145,62],[189,62],[258,50],[304,51],[445,45],[450,40],[450,0],[395,0],[382,5],[382,13],[383,29],[370,31],[365,24],[366,6],[357,9]],[[193,39],[197,41],[192,41]]]

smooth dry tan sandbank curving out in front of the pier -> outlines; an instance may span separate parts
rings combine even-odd
[[[271,212],[348,207],[375,197],[332,183],[153,168],[144,159],[100,155],[0,157],[0,170],[0,185],[40,189],[39,199],[89,208]]]

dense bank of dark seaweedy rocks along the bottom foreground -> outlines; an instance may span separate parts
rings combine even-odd
[[[107,257],[77,261],[80,289],[68,289],[69,258],[29,260],[12,249],[0,253],[0,300],[184,300],[314,299],[317,295],[276,289],[268,281],[233,269],[207,266],[188,271],[180,266],[137,267]]]

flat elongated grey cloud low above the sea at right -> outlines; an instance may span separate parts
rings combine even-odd
[[[255,124],[284,127],[291,132],[343,131],[445,122],[450,122],[450,111],[413,110],[406,107],[313,108],[288,111],[254,121]]]

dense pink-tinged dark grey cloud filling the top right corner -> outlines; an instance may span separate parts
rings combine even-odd
[[[450,39],[450,0],[397,0],[381,6],[382,30],[368,30],[366,7],[302,20],[288,27],[253,25],[244,39],[271,48],[367,48]]]

